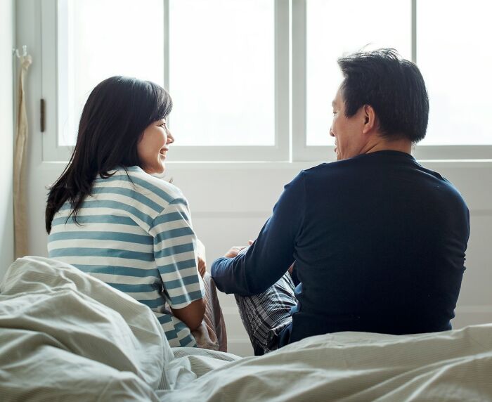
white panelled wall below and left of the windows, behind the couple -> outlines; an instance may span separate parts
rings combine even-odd
[[[26,44],[33,56],[27,79],[30,119],[29,214],[30,254],[46,255],[44,207],[46,187],[60,175],[65,164],[42,162],[39,132],[41,98],[40,27],[34,20],[34,0],[18,0],[23,5],[22,24],[32,30],[18,30],[17,43]],[[3,15],[3,13],[2,13]],[[53,108],[46,105],[46,108]],[[49,128],[48,128],[49,129]],[[174,133],[179,136],[179,133]],[[172,148],[169,154],[172,161]],[[190,201],[193,224],[207,247],[207,260],[224,254],[231,245],[245,244],[259,232],[269,216],[283,185],[300,169],[316,163],[183,164],[170,162],[169,176]],[[426,162],[426,167],[441,172],[465,197],[471,212],[472,234],[467,252],[467,271],[454,320],[455,328],[472,323],[492,323],[492,161]],[[245,330],[233,297],[220,295],[224,309],[230,351],[251,354]]]

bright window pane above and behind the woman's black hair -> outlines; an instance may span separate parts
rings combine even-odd
[[[89,93],[127,75],[164,81],[162,0],[58,0],[58,143],[74,145]]]

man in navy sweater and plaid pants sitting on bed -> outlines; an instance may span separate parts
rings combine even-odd
[[[427,129],[422,75],[391,49],[338,64],[337,162],[301,171],[257,240],[212,264],[255,354],[328,332],[451,329],[470,218],[453,185],[410,155]]]

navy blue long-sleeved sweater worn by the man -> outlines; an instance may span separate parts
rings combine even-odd
[[[290,339],[451,328],[470,217],[440,174],[397,151],[301,171],[243,255],[219,258],[222,292],[264,292],[296,261]],[[282,345],[280,345],[282,346]]]

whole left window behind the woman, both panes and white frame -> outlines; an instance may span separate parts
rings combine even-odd
[[[112,75],[174,100],[174,160],[288,160],[289,4],[43,0],[44,160],[67,160],[84,103]],[[57,134],[58,133],[58,134]],[[172,159],[171,159],[172,160]]]

